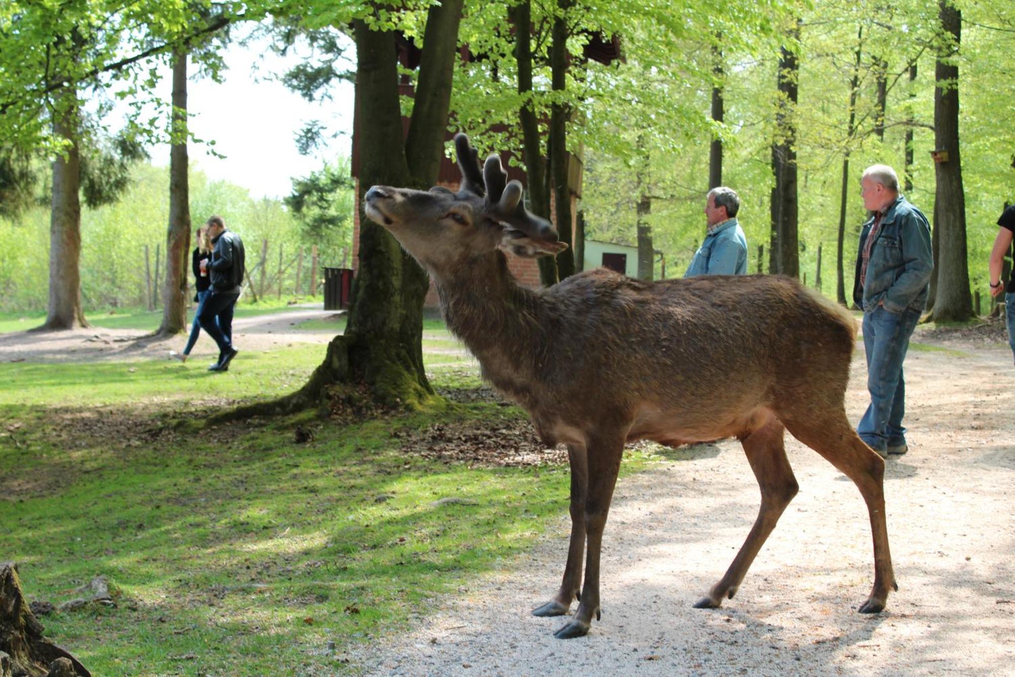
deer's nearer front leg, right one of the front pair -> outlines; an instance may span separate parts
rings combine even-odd
[[[599,609],[599,556],[603,544],[603,529],[606,515],[613,498],[613,487],[620,470],[623,440],[614,440],[608,445],[596,445],[589,449],[589,492],[585,501],[585,529],[588,539],[588,555],[585,567],[585,586],[578,611],[570,621],[553,633],[558,639],[581,637],[589,633],[592,617],[600,618]]]

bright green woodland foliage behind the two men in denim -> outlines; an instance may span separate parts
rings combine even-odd
[[[961,8],[962,46],[956,58],[962,101],[970,282],[975,288],[986,283],[986,260],[997,233],[997,216],[1005,200],[1013,199],[1015,108],[1011,102],[1015,100],[1015,77],[1011,60],[1005,55],[1015,44],[1015,9],[1004,2],[965,2]],[[722,22],[731,14],[719,11],[716,16]],[[856,192],[860,174],[871,164],[886,163],[901,178],[908,128],[915,132],[915,164],[913,190],[907,197],[929,218],[933,214],[935,167],[930,151],[934,149],[937,5],[913,1],[886,7],[823,0],[804,8],[802,16],[801,41],[795,47],[801,59],[800,103],[793,111],[800,171],[801,275],[806,273],[808,285],[814,285],[821,245],[822,291],[834,296],[844,151],[851,153],[843,246],[847,290],[852,289],[860,225],[867,218]],[[640,25],[628,23],[624,35],[634,39],[648,36]],[[777,25],[774,22],[772,27]],[[707,70],[710,41],[706,35],[685,35],[673,50],[662,49],[657,37],[648,36],[644,49],[650,52],[648,59],[655,70],[638,70],[633,58],[617,66],[613,77],[630,80],[620,89],[636,96],[628,99],[627,105],[616,106],[615,93],[600,96],[597,90],[592,113],[584,123],[585,131],[579,132],[585,134],[586,142],[580,208],[586,211],[587,237],[633,244],[638,199],[635,175],[641,169],[649,177],[653,196],[647,221],[653,227],[656,248],[666,254],[668,276],[683,273],[704,236],[701,210],[707,189],[710,132],[724,140],[724,183],[735,188],[743,200],[739,219],[750,245],[750,271],[757,270],[758,245],[764,245],[767,259],[776,42],[766,42],[762,34],[744,40],[735,23],[725,26],[722,36],[725,74],[719,80]],[[850,135],[850,79],[858,47],[862,59],[857,129]],[[876,59],[887,63],[883,140],[875,133]],[[918,77],[910,85],[907,70],[911,62],[918,64]],[[722,125],[705,124],[710,88],[716,81],[725,86],[726,116]],[[645,107],[648,115],[639,111],[641,99],[651,102]],[[630,122],[624,124],[623,120]],[[612,125],[613,130],[601,133],[601,125]],[[639,137],[647,149],[648,165],[637,152]]]

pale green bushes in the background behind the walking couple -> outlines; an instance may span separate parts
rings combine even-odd
[[[164,272],[165,223],[168,220],[167,168],[136,165],[122,199],[114,204],[81,210],[81,295],[91,313],[147,303],[145,246],[151,274],[155,272],[156,247],[160,276]],[[191,172],[191,212],[195,229],[213,213],[240,233],[247,247],[247,268],[260,295],[262,246],[269,243],[265,287],[271,299],[278,296],[278,252],[282,250],[284,299],[309,292],[311,247],[320,250],[320,265],[338,266],[350,243],[349,230],[338,229],[321,239],[303,231],[279,200],[254,199],[245,188],[224,181],[210,181],[200,171]],[[349,213],[351,217],[351,204]],[[345,238],[343,240],[343,238]],[[0,311],[38,311],[46,308],[49,289],[49,209],[24,211],[16,221],[0,219]],[[295,290],[298,253],[302,249],[300,290]],[[188,276],[191,275],[188,254]],[[323,274],[319,270],[319,274]],[[160,292],[160,287],[156,291]],[[318,292],[320,294],[320,292]],[[250,299],[248,294],[245,299]],[[156,294],[160,301],[160,293]]]

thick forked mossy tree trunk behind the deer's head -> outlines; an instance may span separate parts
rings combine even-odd
[[[395,35],[353,21],[360,134],[359,199],[374,185],[425,188],[436,182],[444,150],[462,0],[427,12],[416,105],[403,142]],[[435,71],[435,72],[427,72]],[[422,105],[420,105],[422,104]],[[340,413],[417,408],[433,396],[422,358],[422,268],[382,227],[364,219],[359,272],[345,333],[298,391],[222,418],[319,406]]]

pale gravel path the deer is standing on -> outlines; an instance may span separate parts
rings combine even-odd
[[[918,341],[920,335],[918,334]],[[940,346],[940,344],[939,344]],[[788,438],[801,491],[736,598],[691,605],[746,536],[758,490],[736,442],[673,451],[617,485],[604,538],[603,618],[561,641],[549,599],[560,520],[536,548],[459,594],[407,609],[351,666],[378,675],[1011,675],[1015,673],[1015,369],[1006,346],[949,343],[906,361],[911,450],[887,465],[899,591],[863,616],[873,556],[859,492]],[[867,404],[854,361],[849,414]]]

